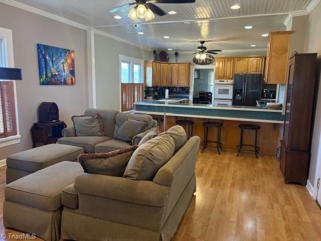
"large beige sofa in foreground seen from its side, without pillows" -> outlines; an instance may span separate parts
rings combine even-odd
[[[189,139],[150,181],[79,174],[62,192],[61,238],[170,240],[196,191],[199,145]]]

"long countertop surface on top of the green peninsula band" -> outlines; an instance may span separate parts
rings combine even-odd
[[[135,102],[135,105],[150,105],[150,106],[171,106],[171,107],[187,107],[187,108],[205,108],[205,109],[222,109],[222,110],[247,110],[247,111],[263,111],[263,112],[282,112],[282,110],[267,109],[265,106],[242,106],[242,105],[232,105],[232,106],[222,106],[214,104],[194,104],[189,101],[189,103],[180,103],[184,99],[177,98],[174,102],[161,101],[161,100],[145,100],[140,102]]]

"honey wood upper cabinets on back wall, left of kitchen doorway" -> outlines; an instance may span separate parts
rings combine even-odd
[[[152,86],[189,86],[190,63],[152,61]],[[146,80],[145,80],[146,82]]]

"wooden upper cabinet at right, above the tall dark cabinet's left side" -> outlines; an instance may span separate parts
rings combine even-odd
[[[269,34],[264,82],[285,84],[291,34],[292,31]]]

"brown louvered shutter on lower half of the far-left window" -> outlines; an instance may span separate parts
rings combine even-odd
[[[17,135],[14,82],[0,82],[0,138]]]

